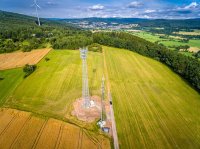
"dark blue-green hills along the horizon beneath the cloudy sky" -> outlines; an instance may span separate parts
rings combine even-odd
[[[17,24],[22,25],[36,25],[36,18],[32,16],[5,12],[0,10],[0,25],[2,24]],[[197,28],[200,29],[200,18],[185,19],[185,20],[167,20],[167,19],[141,19],[141,18],[80,18],[80,19],[62,19],[62,18],[42,18],[42,23],[45,24],[68,24],[69,22],[78,23],[87,21],[93,22],[105,22],[107,24],[139,24],[141,27],[181,27],[181,28]]]

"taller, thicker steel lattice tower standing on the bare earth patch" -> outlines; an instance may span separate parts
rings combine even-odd
[[[80,49],[80,56],[82,59],[82,98],[84,100],[84,108],[90,107],[90,95],[88,86],[88,73],[87,73],[87,48]]]

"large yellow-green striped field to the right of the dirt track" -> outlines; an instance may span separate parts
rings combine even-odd
[[[120,148],[200,148],[200,95],[155,60],[104,50]]]

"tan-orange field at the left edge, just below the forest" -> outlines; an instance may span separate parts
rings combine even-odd
[[[26,64],[37,64],[51,49],[32,50],[0,54],[0,70],[23,67]]]

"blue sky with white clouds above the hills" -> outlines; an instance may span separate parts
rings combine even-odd
[[[37,0],[48,18],[200,18],[200,0]],[[0,10],[35,15],[33,0],[0,0]]]

